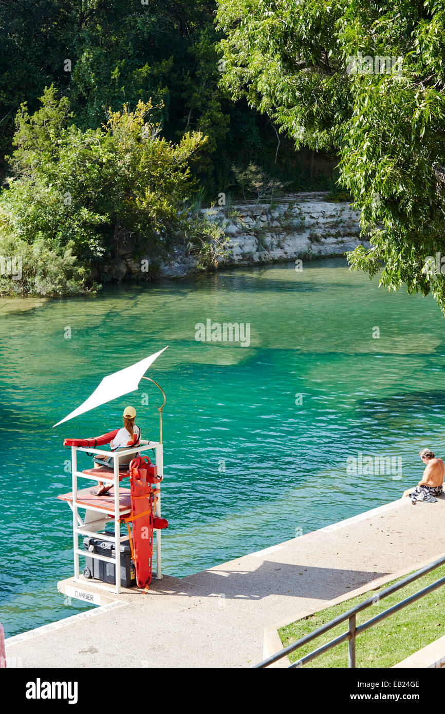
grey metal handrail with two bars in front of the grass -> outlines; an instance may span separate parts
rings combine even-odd
[[[300,638],[296,642],[291,643],[291,645],[287,645],[287,647],[283,648],[274,655],[271,655],[266,660],[263,660],[259,664],[254,665],[254,669],[269,667],[269,665],[273,664],[277,660],[280,660],[281,658],[286,657],[286,655],[289,655],[291,652],[298,650],[306,643],[311,642],[311,640],[314,640],[315,638],[319,637],[319,635],[323,635],[325,632],[331,630],[332,628],[336,627],[336,625],[339,625],[345,620],[348,620],[349,623],[347,632],[343,633],[342,635],[339,635],[334,640],[331,640],[330,642],[326,643],[326,645],[322,645],[317,650],[314,650],[313,652],[309,653],[309,655],[304,655],[304,657],[302,657],[300,660],[289,665],[289,669],[295,667],[302,667],[304,664],[306,664],[306,662],[314,660],[316,657],[319,657],[319,655],[323,654],[324,652],[327,652],[328,650],[331,650],[333,647],[336,647],[336,645],[339,645],[345,640],[349,640],[348,666],[355,667],[356,635],[359,635],[361,632],[364,632],[364,630],[367,630],[373,625],[376,625],[377,623],[381,622],[381,620],[384,620],[385,618],[389,617],[389,615],[396,613],[398,610],[406,608],[407,605],[411,605],[411,603],[416,602],[416,600],[423,598],[424,595],[427,595],[433,590],[440,588],[441,585],[445,585],[445,577],[436,580],[434,583],[431,583],[431,585],[426,585],[426,588],[419,590],[419,592],[414,593],[413,595],[409,595],[408,598],[401,600],[400,603],[396,603],[396,605],[392,605],[391,608],[384,610],[384,612],[379,613],[379,615],[375,615],[374,618],[366,620],[366,622],[362,623],[358,627],[356,626],[356,614],[360,613],[362,610],[366,610],[366,608],[369,608],[371,605],[374,605],[374,603],[376,602],[376,598],[378,598],[379,601],[383,600],[388,595],[391,595],[391,593],[395,593],[396,590],[400,590],[401,588],[404,588],[405,585],[413,583],[414,580],[418,580],[418,578],[421,578],[422,575],[426,575],[426,573],[431,573],[431,570],[439,568],[439,565],[443,565],[444,563],[445,555],[442,555],[441,558],[433,560],[433,562],[429,563],[428,565],[424,565],[424,568],[416,570],[416,572],[411,573],[411,575],[406,575],[406,578],[402,578],[402,580],[398,580],[393,585],[390,585],[389,588],[385,588],[385,590],[382,590],[381,593],[378,593],[378,595],[371,595],[371,597],[366,598],[366,600],[363,600],[363,602],[359,603],[359,605],[355,605],[354,608],[347,610],[346,613],[337,615],[337,617],[333,620],[330,620],[329,623],[321,625],[321,627],[314,630],[314,632],[304,635],[304,637]]]

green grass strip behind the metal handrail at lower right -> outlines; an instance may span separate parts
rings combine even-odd
[[[363,612],[356,615],[356,624],[366,622],[374,615],[383,612],[399,603],[404,598],[412,593],[417,593],[422,588],[434,583],[435,580],[443,578],[445,575],[445,565],[436,568],[432,573],[424,575],[414,583],[406,585],[404,588],[397,590],[383,600],[378,600],[379,591],[388,588],[391,583],[382,585],[378,590],[369,590],[368,593],[359,595],[351,600],[345,600],[339,605],[326,610],[320,610],[314,615],[297,620],[291,625],[281,628],[278,632],[281,637],[281,642],[284,646],[290,645],[292,642],[299,640],[304,635],[313,632],[324,623],[329,622],[337,615],[345,613],[346,610],[358,605],[366,598],[373,596],[376,598],[376,603],[366,608]],[[401,579],[401,578],[400,578]],[[309,642],[304,647],[299,648],[296,652],[291,653],[289,659],[291,662],[296,662],[303,655],[307,655],[315,649],[318,649],[324,643],[333,640],[348,629],[347,620],[336,628],[329,630],[324,635]],[[383,620],[379,625],[365,630],[364,633],[357,635],[356,638],[356,666],[357,667],[391,667],[404,658],[409,657],[422,647],[429,645],[445,634],[445,586],[442,585],[438,590],[425,595],[424,598],[416,603],[408,605],[408,607],[400,610],[389,618]],[[315,660],[309,662],[306,667],[347,667],[348,666],[348,643],[337,645],[324,655],[320,655]]]

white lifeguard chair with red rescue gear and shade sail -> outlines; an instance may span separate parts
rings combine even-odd
[[[151,363],[161,354],[161,350],[156,355],[142,360],[140,363],[122,370],[121,373],[129,372],[131,369],[139,367],[139,371],[144,368],[145,364]],[[121,373],[115,373],[104,378],[93,395],[81,405],[77,410],[72,412],[62,421],[66,421],[71,416],[77,416],[82,411],[87,411],[92,406],[97,406],[93,403],[92,398],[96,393],[101,391],[102,386],[111,378],[119,376]],[[128,376],[128,375],[126,375]],[[134,378],[134,375],[132,376]],[[65,439],[64,446],[71,447],[71,478],[72,491],[63,493],[57,496],[59,500],[66,501],[71,508],[73,515],[73,551],[74,551],[74,582],[82,585],[89,583],[94,588],[100,590],[108,590],[112,593],[121,593],[121,543],[129,541],[131,546],[131,556],[135,564],[136,578],[139,587],[149,585],[151,581],[151,563],[154,550],[154,536],[156,536],[156,579],[161,580],[161,531],[168,526],[167,521],[161,518],[161,481],[164,478],[164,461],[163,461],[163,445],[162,445],[162,410],[166,403],[166,396],[158,383],[149,377],[139,376],[136,382],[139,383],[140,378],[147,379],[154,383],[164,397],[164,401],[159,411],[159,441],[146,441],[141,439],[137,446],[121,449],[119,451],[105,451],[100,446],[109,443],[118,430],[104,434],[96,438],[87,439]],[[109,383],[109,382],[108,382]],[[102,391],[104,391],[102,389]],[[126,392],[129,390],[127,389]],[[124,392],[124,393],[126,393]],[[112,398],[115,398],[114,396]],[[97,400],[96,400],[97,401]],[[104,399],[103,401],[109,401]],[[91,403],[92,406],[89,406]],[[86,408],[84,408],[86,406]],[[61,422],[59,422],[61,423]],[[57,425],[56,425],[57,426]],[[99,448],[98,448],[99,447]],[[151,478],[147,478],[142,484],[138,479],[131,481],[130,488],[123,488],[120,482],[124,478],[133,478],[129,473],[129,466],[119,466],[119,460],[123,459],[128,462],[131,458],[140,453],[141,457],[146,455],[146,452],[154,450],[155,463],[151,465],[149,473]],[[99,468],[86,468],[79,471],[77,468],[78,452],[88,453],[89,456],[95,455],[101,458],[111,457],[113,467],[107,468],[101,466]],[[78,478],[83,478],[88,481],[101,481],[112,488],[104,496],[94,496],[91,493],[91,486],[88,488],[78,488]],[[142,484],[142,485],[141,485]],[[79,513],[81,511],[81,513]],[[82,515],[81,515],[82,514]],[[114,533],[105,531],[106,523],[114,521]],[[120,524],[124,522],[127,526],[127,533],[121,535]],[[141,524],[144,523],[145,528],[149,532],[141,535]],[[130,532],[131,525],[131,532]],[[106,543],[114,545],[114,558],[96,553],[92,550],[81,550],[79,548],[79,537],[90,536],[97,537]],[[97,580],[87,580],[81,578],[80,558],[92,558],[102,560],[105,563],[114,565],[115,582],[99,583]]]

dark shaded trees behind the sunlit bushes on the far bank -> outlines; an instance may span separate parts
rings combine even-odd
[[[2,0],[0,175],[20,105],[36,111],[54,84],[82,130],[101,126],[109,107],[151,99],[169,141],[201,131],[207,142],[193,171],[207,203],[220,191],[241,193],[232,166],[251,162],[289,190],[329,188],[329,164],[312,180],[309,152],[296,156],[268,117],[219,88],[214,12],[214,0]]]

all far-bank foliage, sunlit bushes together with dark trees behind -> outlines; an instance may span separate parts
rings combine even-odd
[[[0,292],[94,289],[140,274],[141,256],[151,276],[177,241],[215,266],[224,237],[199,206],[332,187],[331,157],[313,175],[313,153],[219,86],[214,12],[214,0],[0,1]],[[1,261],[14,256],[11,280]]]

